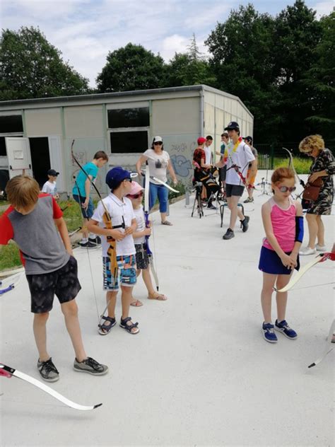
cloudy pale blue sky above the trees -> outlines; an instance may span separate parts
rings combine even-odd
[[[294,0],[1,0],[1,28],[39,27],[63,59],[95,86],[108,52],[141,44],[168,61],[184,52],[194,33],[204,40],[225,21],[231,9],[253,3],[257,11],[276,15]],[[329,14],[334,0],[306,0],[317,16]]]

